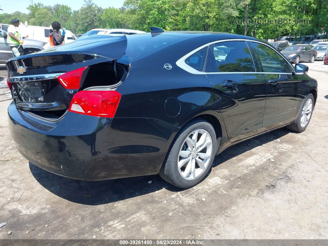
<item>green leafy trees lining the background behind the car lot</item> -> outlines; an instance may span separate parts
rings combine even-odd
[[[31,25],[49,26],[57,20],[75,34],[93,28],[128,28],[149,32],[151,26],[164,30],[214,31],[244,34],[248,19],[309,19],[311,24],[268,24],[256,22],[246,27],[247,35],[260,39],[274,39],[284,35],[304,36],[328,32],[327,0],[126,0],[120,9],[102,9],[92,0],[85,0],[78,11],[66,5],[30,5],[29,14],[14,12],[0,14],[1,23],[13,18]]]

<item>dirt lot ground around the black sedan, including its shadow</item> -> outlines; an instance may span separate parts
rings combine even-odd
[[[0,223],[7,222],[0,238],[327,239],[328,66],[322,63],[304,62],[319,84],[305,132],[283,128],[235,145],[188,190],[157,175],[86,182],[29,164],[8,131],[11,101],[0,102]],[[6,72],[0,76],[3,87]]]

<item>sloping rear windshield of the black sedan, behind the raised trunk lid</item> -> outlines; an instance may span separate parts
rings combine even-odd
[[[133,61],[185,38],[168,35],[137,34],[127,36],[127,39],[128,44],[124,56]]]

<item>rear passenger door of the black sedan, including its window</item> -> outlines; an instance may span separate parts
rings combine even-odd
[[[218,96],[231,142],[261,131],[266,98],[266,81],[256,72],[246,41],[219,41],[212,44],[206,76]]]

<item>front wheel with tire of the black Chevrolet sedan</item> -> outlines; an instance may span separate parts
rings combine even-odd
[[[310,104],[311,104],[311,108],[310,108]],[[314,97],[310,93],[303,100],[302,106],[298,112],[298,116],[297,116],[296,120],[293,123],[291,123],[290,125],[287,125],[286,128],[289,130],[292,130],[292,131],[296,131],[296,132],[305,131],[306,127],[310,123],[313,108],[314,108]]]

